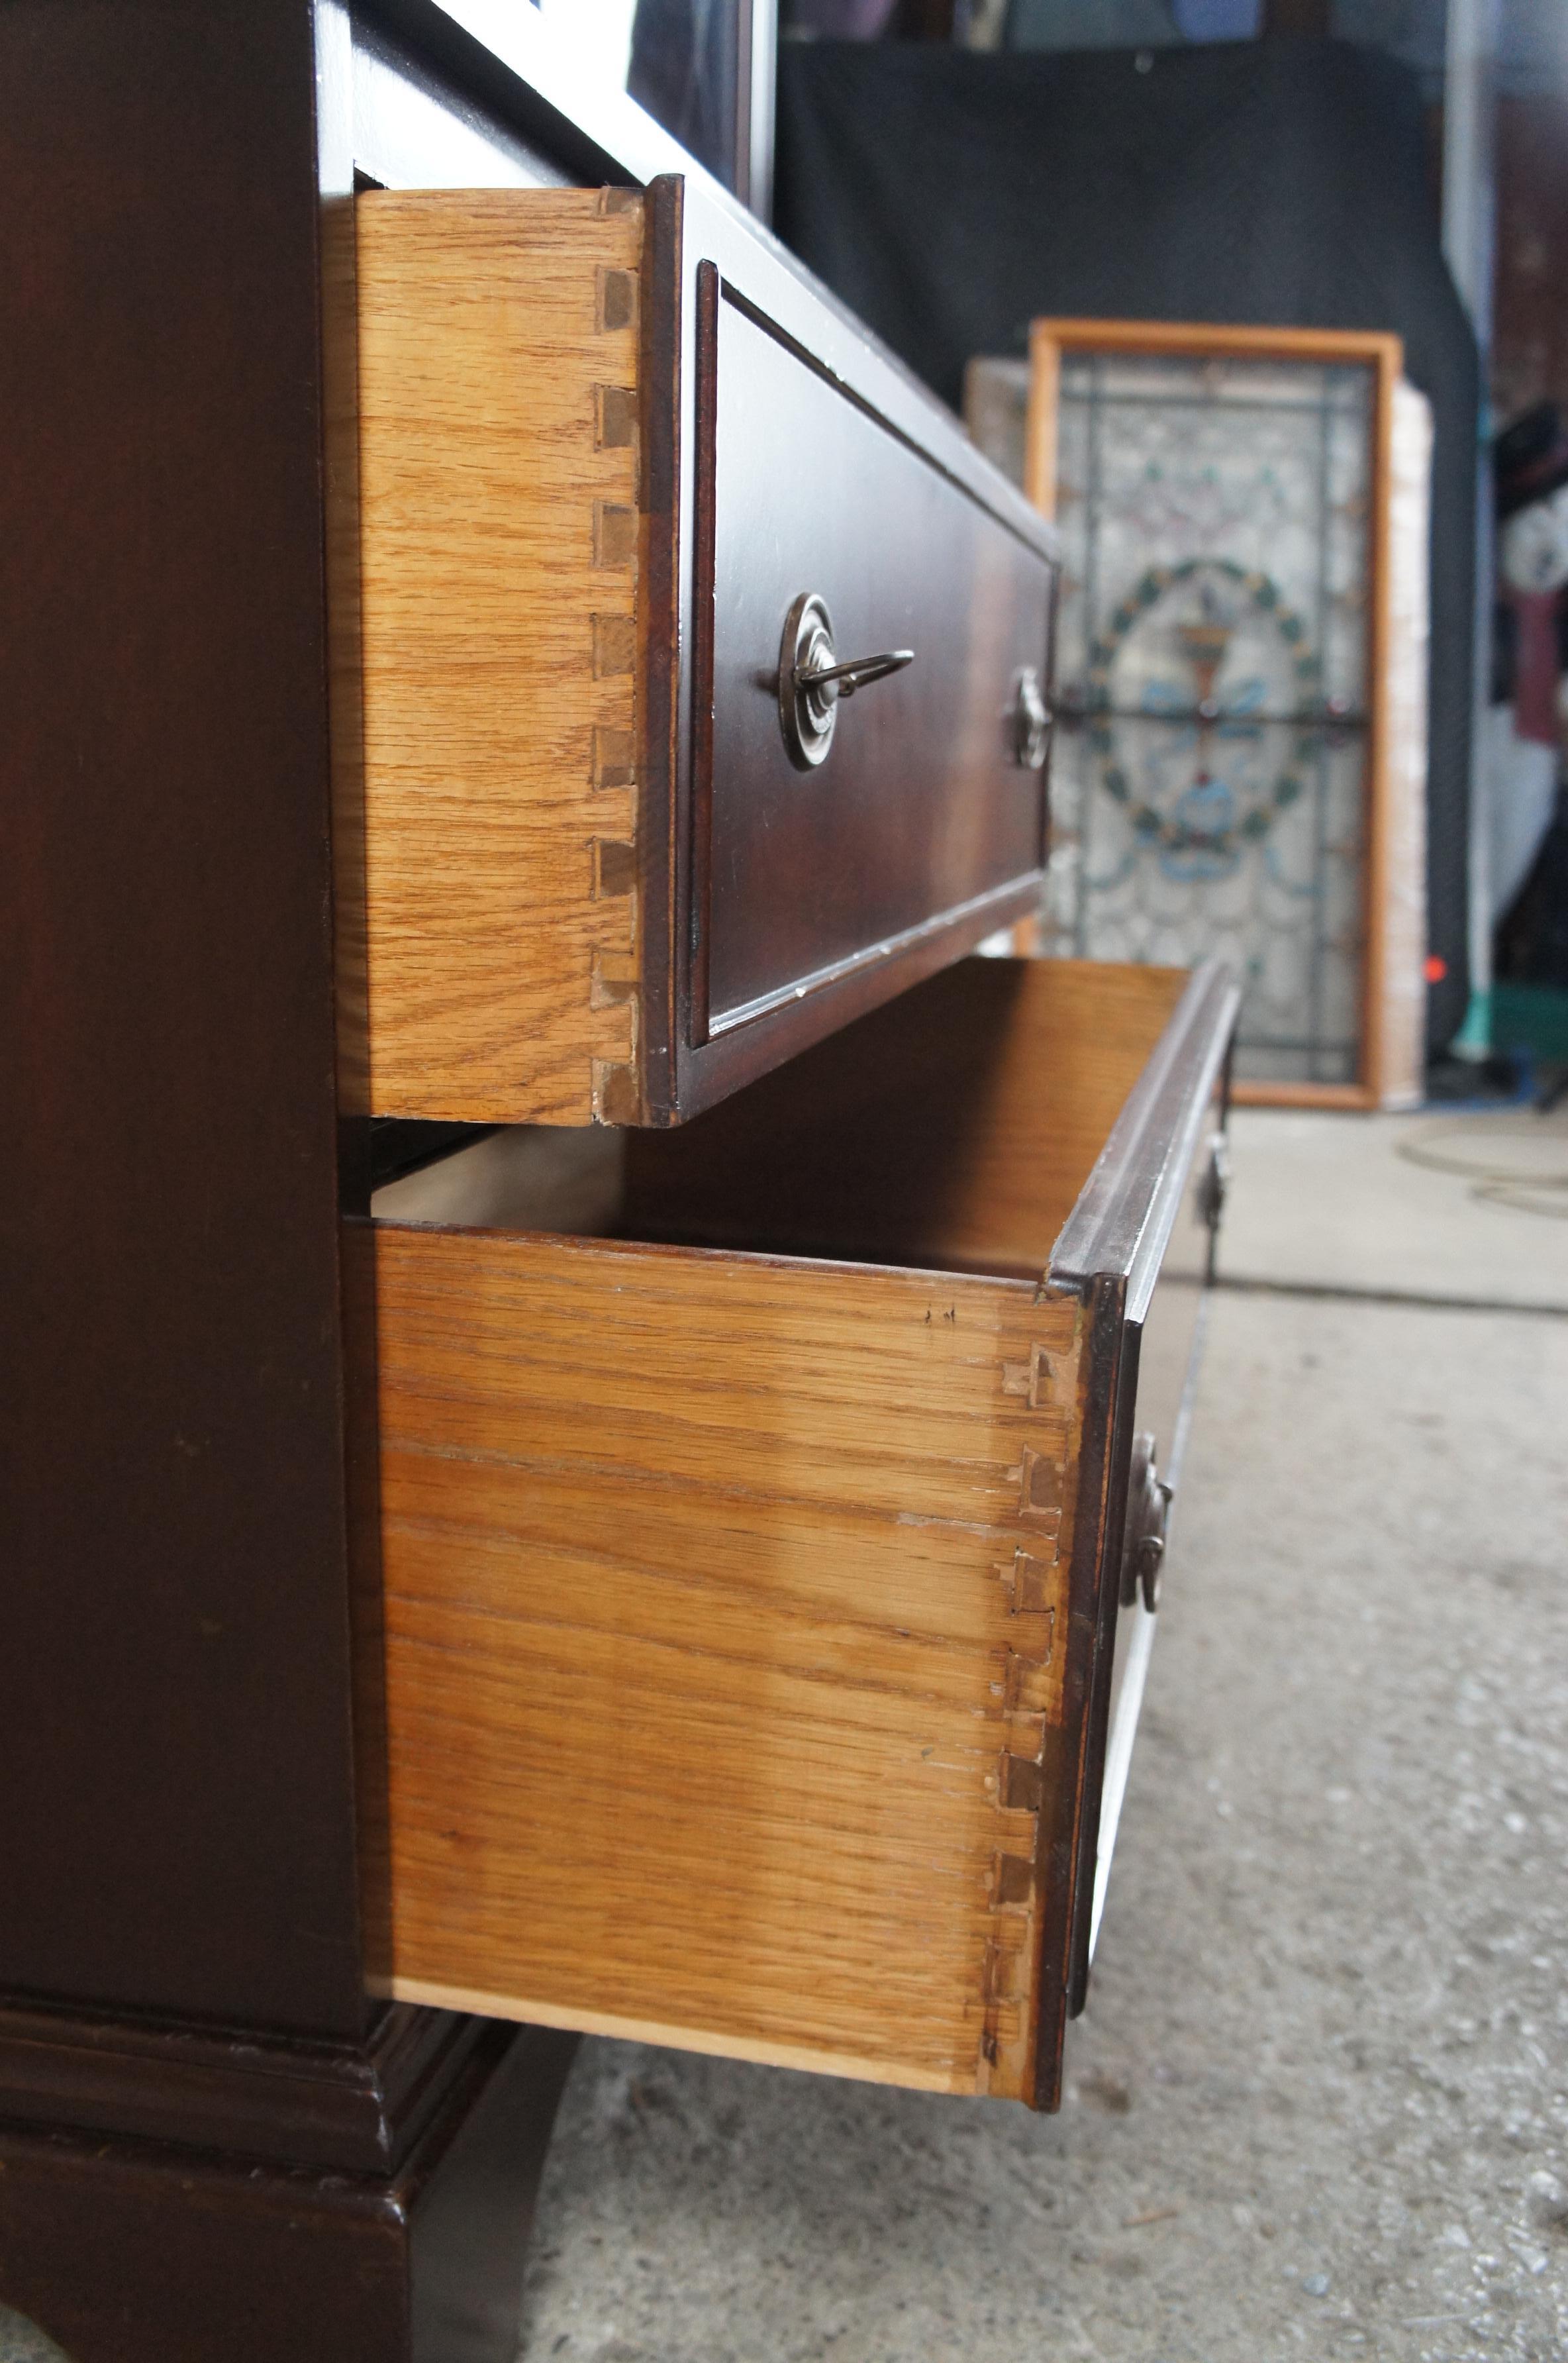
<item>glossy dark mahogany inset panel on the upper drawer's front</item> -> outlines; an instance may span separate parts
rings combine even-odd
[[[1025,673],[1048,678],[1053,567],[711,267],[701,310],[713,638],[694,697],[699,740],[711,716],[694,1000],[701,1018],[706,981],[720,1035],[1039,870],[1044,770],[1020,761],[1018,697]],[[805,593],[836,662],[914,652],[838,702],[815,768],[791,761],[777,690]],[[697,598],[701,629],[701,581]]]

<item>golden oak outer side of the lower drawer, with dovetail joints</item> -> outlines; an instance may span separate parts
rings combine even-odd
[[[392,1990],[1032,2091],[1077,1302],[378,1231]]]

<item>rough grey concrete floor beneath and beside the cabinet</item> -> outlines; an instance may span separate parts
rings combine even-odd
[[[1244,1113],[1230,1271],[1568,1304],[1424,1122]],[[1566,1439],[1561,1316],[1223,1290],[1060,2117],[586,2044],[527,2363],[1561,2363]]]

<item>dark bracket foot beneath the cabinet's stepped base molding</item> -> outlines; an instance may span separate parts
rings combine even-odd
[[[7,2304],[116,2363],[510,2363],[576,2046],[465,2025],[392,2172],[0,2122]]]

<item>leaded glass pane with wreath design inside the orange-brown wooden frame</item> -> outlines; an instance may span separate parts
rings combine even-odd
[[[1060,366],[1046,948],[1226,952],[1252,1080],[1360,1068],[1372,404],[1365,364]]]

